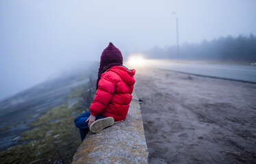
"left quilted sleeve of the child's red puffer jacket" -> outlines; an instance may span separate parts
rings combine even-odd
[[[90,105],[91,115],[97,116],[101,114],[106,105],[110,102],[115,91],[115,83],[110,81],[107,76],[101,77],[98,84],[96,96]]]

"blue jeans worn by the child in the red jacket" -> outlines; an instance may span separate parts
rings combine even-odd
[[[87,133],[89,132],[89,127],[88,127],[88,122],[86,120],[90,117],[90,111],[79,115],[75,120],[75,126],[79,128],[80,131],[80,136],[81,136],[81,141],[84,141],[84,138],[86,137]],[[95,120],[99,120],[105,118],[101,115],[97,115]]]

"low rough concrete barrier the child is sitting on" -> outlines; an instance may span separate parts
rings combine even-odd
[[[132,96],[127,118],[99,133],[88,133],[73,156],[73,164],[148,163],[140,103],[136,94]]]

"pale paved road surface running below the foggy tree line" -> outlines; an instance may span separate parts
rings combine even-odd
[[[205,64],[193,62],[174,62],[168,60],[147,60],[146,66],[197,74],[207,77],[233,79],[256,83],[256,66],[234,66],[224,64]]]

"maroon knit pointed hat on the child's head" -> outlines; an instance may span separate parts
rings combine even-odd
[[[96,88],[98,89],[99,79],[101,79],[101,74],[103,74],[107,69],[112,66],[122,66],[123,56],[119,49],[114,46],[112,42],[108,44],[107,48],[101,54],[101,64],[99,66],[99,73]]]

